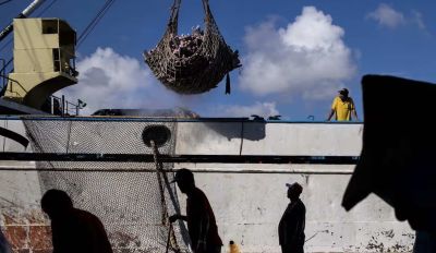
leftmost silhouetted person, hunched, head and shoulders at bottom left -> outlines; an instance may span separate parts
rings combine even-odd
[[[47,191],[41,207],[51,219],[53,253],[112,253],[101,221],[88,212],[74,208],[65,192]]]

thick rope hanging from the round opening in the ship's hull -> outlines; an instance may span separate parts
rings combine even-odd
[[[159,183],[160,204],[162,206],[162,225],[166,226],[170,230],[169,233],[170,233],[171,248],[175,252],[180,252],[180,248],[179,248],[179,245],[177,243],[174,230],[172,229],[172,225],[170,222],[170,217],[168,215],[167,203],[165,201],[165,188],[164,188],[162,179],[160,177],[160,173],[164,173],[165,171],[160,167],[159,161],[157,159],[158,149],[157,149],[157,147],[155,145],[155,141],[152,140],[150,143],[152,143],[152,149],[153,149],[153,158],[154,158],[154,161],[155,161],[157,181]]]

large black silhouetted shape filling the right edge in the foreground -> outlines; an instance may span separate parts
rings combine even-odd
[[[436,230],[436,85],[391,76],[362,80],[361,159],[342,206],[371,193],[389,203],[415,230]]]

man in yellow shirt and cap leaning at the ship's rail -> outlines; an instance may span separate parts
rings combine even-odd
[[[347,88],[339,91],[339,97],[335,98],[334,105],[331,106],[330,115],[327,117],[327,121],[331,119],[336,112],[337,121],[351,121],[351,112],[353,112],[354,119],[361,121],[358,118],[358,112],[355,111],[354,101],[348,96],[349,92]]]

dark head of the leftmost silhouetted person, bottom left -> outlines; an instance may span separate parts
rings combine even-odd
[[[73,208],[73,202],[64,191],[48,190],[41,198],[41,208],[50,219]]]

